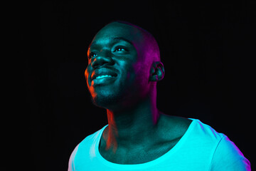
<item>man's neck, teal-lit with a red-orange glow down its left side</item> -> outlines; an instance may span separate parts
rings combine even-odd
[[[139,146],[150,141],[156,123],[159,119],[159,110],[156,108],[156,93],[150,95],[132,108],[125,110],[107,110],[108,128],[106,149]]]

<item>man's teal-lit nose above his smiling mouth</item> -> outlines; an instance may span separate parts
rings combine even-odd
[[[92,65],[92,68],[96,69],[96,68],[101,68],[102,66],[105,66],[105,65],[112,66],[112,65],[114,65],[114,61],[109,52],[101,51],[94,58],[91,65]]]

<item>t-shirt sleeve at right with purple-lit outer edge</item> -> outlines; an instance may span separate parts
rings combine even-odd
[[[250,171],[250,162],[227,136],[218,143],[210,166],[211,171]]]

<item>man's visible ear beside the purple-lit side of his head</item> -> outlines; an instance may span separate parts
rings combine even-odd
[[[154,61],[150,68],[149,81],[161,81],[164,78],[164,64]]]

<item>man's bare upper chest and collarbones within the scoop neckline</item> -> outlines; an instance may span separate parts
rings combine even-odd
[[[110,138],[108,136],[109,127],[107,127],[100,140],[100,154],[110,162],[124,165],[150,162],[171,150],[186,133],[190,124],[191,120],[186,118],[161,113],[155,130],[152,130],[151,135],[146,138],[147,140],[140,142],[143,145],[139,143],[137,145],[124,145],[126,147],[120,146],[117,150],[113,150],[114,145],[107,149],[107,140]],[[136,140],[134,141],[136,142]]]

